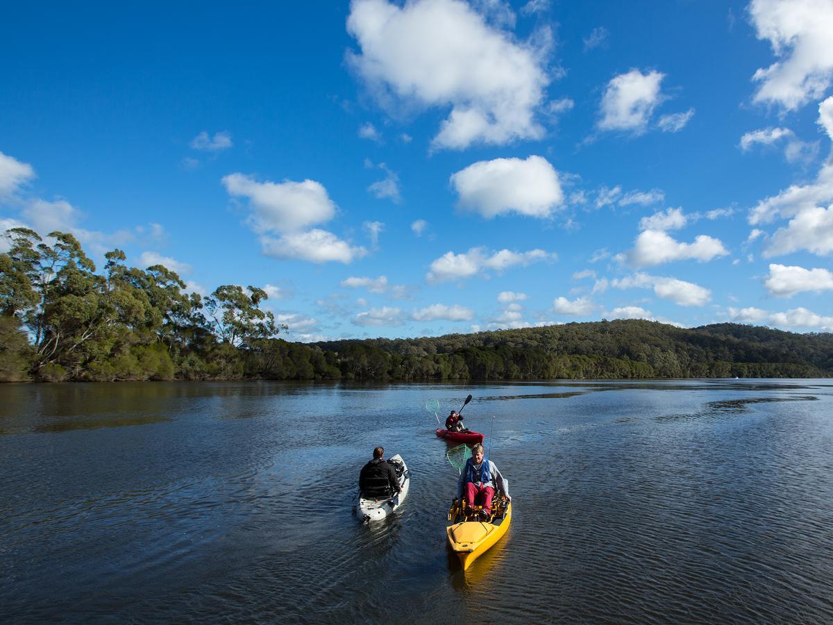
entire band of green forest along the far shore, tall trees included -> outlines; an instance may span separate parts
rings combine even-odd
[[[71,234],[12,228],[0,254],[0,381],[816,378],[833,334],[602,320],[438,338],[291,343],[237,285],[186,293],[162,265],[102,273]]]

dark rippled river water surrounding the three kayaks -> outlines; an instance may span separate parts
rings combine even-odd
[[[424,404],[468,393],[515,515],[464,574]],[[5,622],[833,622],[829,380],[7,384],[0,476]]]

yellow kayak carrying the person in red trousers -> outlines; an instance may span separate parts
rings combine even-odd
[[[481,506],[475,506],[477,518]],[[512,521],[512,504],[505,495],[495,498],[491,505],[491,517],[484,520],[469,520],[462,510],[461,502],[455,500],[448,510],[448,520],[451,524],[446,527],[448,545],[460,559],[463,571],[481,557],[489,547],[500,540],[506,533]]]

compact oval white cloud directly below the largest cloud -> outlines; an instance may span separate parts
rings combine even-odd
[[[547,218],[564,201],[558,173],[539,156],[480,161],[451,176],[464,208],[493,218],[505,213]]]

